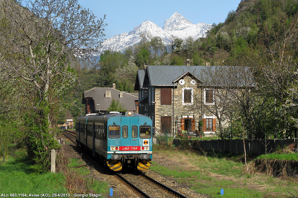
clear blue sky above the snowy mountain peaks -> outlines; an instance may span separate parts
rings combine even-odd
[[[240,0],[78,0],[98,18],[106,15],[105,38],[129,32],[143,21],[150,20],[161,28],[164,20],[178,12],[192,23],[224,22],[229,11],[236,10]]]

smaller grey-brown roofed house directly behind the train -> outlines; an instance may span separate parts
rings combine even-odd
[[[136,101],[139,99],[135,94],[119,91],[115,88],[95,87],[83,93],[82,104],[85,104],[85,113],[99,113],[108,109],[112,99],[119,100],[126,110],[136,111]]]

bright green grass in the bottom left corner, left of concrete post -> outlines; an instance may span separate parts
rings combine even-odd
[[[35,175],[32,163],[26,156],[8,157],[0,166],[1,193],[66,193],[66,189],[60,184],[64,182],[63,174],[46,173]]]

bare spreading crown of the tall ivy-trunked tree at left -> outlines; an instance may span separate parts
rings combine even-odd
[[[0,69],[6,78],[35,86],[40,101],[60,94],[75,82],[68,68],[74,59],[92,60],[102,42],[103,19],[77,0],[1,2]]]

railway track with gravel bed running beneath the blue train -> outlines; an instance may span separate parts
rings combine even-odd
[[[76,144],[76,142],[73,140],[73,137],[75,137],[75,132],[64,130],[63,135],[65,135],[69,140],[71,140]],[[69,137],[69,135],[71,135],[72,137]],[[93,160],[98,161],[97,159],[94,159],[94,158]],[[115,175],[116,178],[119,178],[119,181],[125,182],[128,185],[128,188],[133,189],[133,191],[135,191],[133,194],[136,197],[187,198],[183,194],[180,194],[179,192],[154,180],[153,178],[150,178],[149,176],[145,175],[145,173],[140,172],[138,170],[134,170],[134,169],[125,170],[125,172],[129,172],[129,173],[117,173],[117,172],[110,171],[110,169],[107,169],[107,171]],[[133,174],[131,172],[133,172]]]

